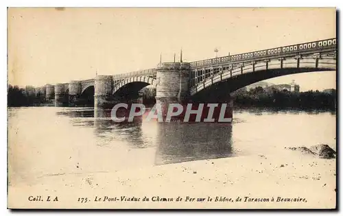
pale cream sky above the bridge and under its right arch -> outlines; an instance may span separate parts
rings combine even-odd
[[[8,82],[66,83],[335,38],[335,8],[9,8]],[[335,88],[336,72],[266,80]]]

